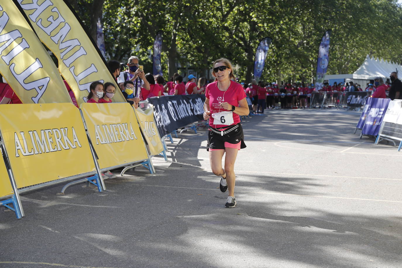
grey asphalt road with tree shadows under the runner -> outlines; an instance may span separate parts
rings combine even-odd
[[[402,153],[359,139],[358,118],[266,110],[245,120],[232,209],[205,129],[167,142],[154,175],[136,168],[101,193],[23,194],[23,219],[0,210],[0,267],[402,267]]]

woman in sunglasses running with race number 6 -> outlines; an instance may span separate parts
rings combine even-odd
[[[245,148],[240,115],[248,115],[249,109],[241,84],[233,75],[232,64],[228,59],[217,59],[213,63],[212,76],[215,82],[205,89],[204,114],[209,119],[207,151],[211,170],[221,176],[219,188],[222,192],[229,189],[225,207],[235,207],[234,197],[234,162],[240,149]],[[222,157],[226,153],[225,166],[222,168]]]

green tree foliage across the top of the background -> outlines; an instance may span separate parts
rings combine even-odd
[[[88,8],[96,0],[69,1],[78,3],[76,11],[90,28]],[[261,80],[310,81],[327,29],[328,74],[354,72],[367,54],[402,63],[396,0],[105,0],[103,23],[109,56],[126,62],[137,55],[146,71],[152,68],[154,37],[163,31],[165,78],[179,64],[208,73],[215,59],[226,57],[248,82],[258,42],[271,37]]]

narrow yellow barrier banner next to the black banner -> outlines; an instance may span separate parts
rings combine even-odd
[[[161,153],[164,148],[154,120],[154,106],[148,104],[148,108],[145,110],[140,107],[134,108],[134,110],[140,123],[139,126],[150,148],[150,154],[157,155]]]

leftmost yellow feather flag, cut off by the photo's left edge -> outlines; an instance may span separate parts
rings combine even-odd
[[[56,65],[13,1],[0,4],[0,73],[23,103],[71,102]]]

